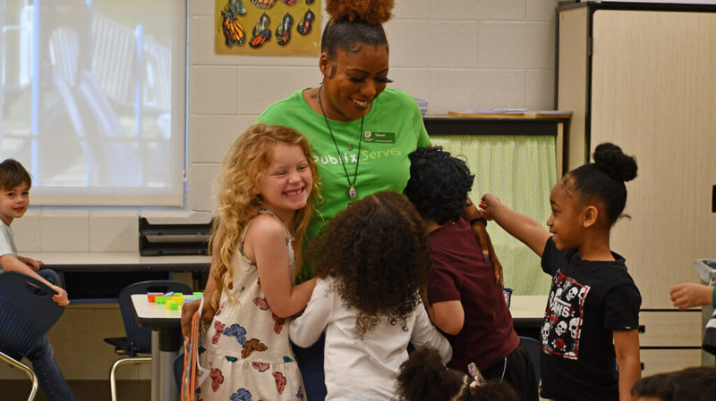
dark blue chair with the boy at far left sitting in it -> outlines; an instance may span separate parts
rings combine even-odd
[[[64,308],[52,300],[47,285],[19,272],[0,272],[0,359],[25,372],[32,380],[28,400],[38,393],[38,378],[21,363],[22,357],[62,316]]]

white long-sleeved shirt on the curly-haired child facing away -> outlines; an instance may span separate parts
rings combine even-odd
[[[361,341],[355,333],[358,310],[343,305],[340,295],[331,288],[333,282],[318,280],[303,315],[289,327],[291,340],[299,347],[311,346],[326,330],[326,400],[395,397],[396,373],[408,357],[408,342],[414,347],[437,348],[444,362],[452,357],[450,344],[432,325],[422,303],[407,318],[407,330],[380,317],[379,324],[367,331]]]

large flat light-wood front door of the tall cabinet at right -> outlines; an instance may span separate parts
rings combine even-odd
[[[716,258],[716,13],[600,10],[593,16],[590,147],[635,155],[611,246],[642,292],[669,308],[669,288],[698,282]]]

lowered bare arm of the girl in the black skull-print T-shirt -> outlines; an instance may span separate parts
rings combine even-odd
[[[639,361],[639,333],[634,330],[612,330],[614,351],[617,353],[619,370],[619,401],[631,401],[632,387],[642,376]]]

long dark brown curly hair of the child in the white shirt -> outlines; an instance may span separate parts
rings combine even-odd
[[[311,243],[316,275],[337,280],[347,307],[360,311],[358,338],[385,316],[400,324],[420,303],[430,270],[428,234],[413,205],[393,191],[354,202]]]

